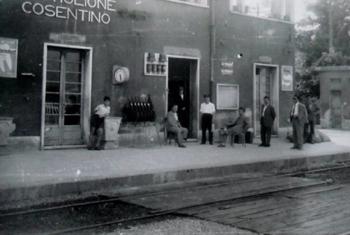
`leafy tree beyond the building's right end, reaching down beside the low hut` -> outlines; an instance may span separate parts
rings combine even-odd
[[[297,93],[319,97],[319,81],[312,75],[315,64],[350,65],[350,1],[317,0],[308,6],[314,17],[297,25]],[[321,58],[321,59],[320,59]],[[300,62],[301,61],[301,62]]]

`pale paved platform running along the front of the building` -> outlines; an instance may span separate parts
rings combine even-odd
[[[163,146],[152,149],[108,151],[52,150],[0,155],[0,189],[89,179],[160,173],[276,159],[291,159],[350,151],[350,132],[326,131],[335,142],[305,145],[291,150],[284,139],[273,139],[272,148],[257,144],[218,148],[188,144],[186,149]],[[334,136],[334,137],[333,137]]]

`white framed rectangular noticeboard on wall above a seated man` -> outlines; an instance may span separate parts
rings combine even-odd
[[[216,85],[216,107],[218,110],[239,108],[239,86],[235,84]]]

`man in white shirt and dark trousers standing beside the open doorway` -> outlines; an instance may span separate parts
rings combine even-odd
[[[202,114],[202,142],[205,144],[207,142],[206,132],[209,132],[209,143],[213,144],[213,132],[211,130],[213,123],[213,115],[215,113],[215,105],[210,102],[209,95],[204,95],[204,103],[201,104],[200,112]]]

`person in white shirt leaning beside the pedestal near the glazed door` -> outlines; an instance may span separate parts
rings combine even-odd
[[[107,96],[103,99],[103,104],[97,105],[94,115],[91,117],[91,132],[89,140],[89,150],[101,150],[102,135],[104,129],[104,120],[111,112],[111,99]]]

